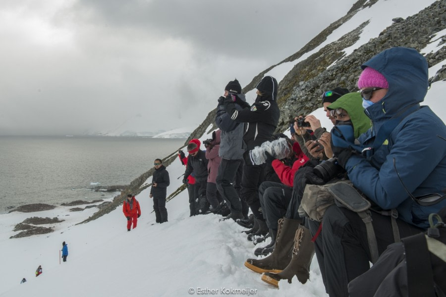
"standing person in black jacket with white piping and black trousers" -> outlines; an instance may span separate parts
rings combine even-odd
[[[243,141],[246,144],[245,153],[254,147],[260,146],[272,139],[279,122],[279,106],[277,105],[277,80],[272,76],[265,76],[256,86],[257,98],[251,107],[237,110],[234,102],[236,96],[228,95],[224,99],[224,107],[231,120],[245,123]],[[262,207],[259,200],[259,185],[263,181],[263,165],[243,164],[243,176],[240,196],[251,208],[261,233],[266,234],[268,227],[263,218]],[[253,230],[257,231],[257,230]]]

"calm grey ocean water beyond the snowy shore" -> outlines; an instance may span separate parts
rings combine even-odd
[[[94,200],[128,185],[184,139],[0,136],[0,213],[8,206]]]

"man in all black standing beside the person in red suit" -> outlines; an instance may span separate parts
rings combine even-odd
[[[153,198],[156,222],[164,223],[167,222],[166,196],[167,187],[170,184],[169,173],[161,159],[156,159],[153,164],[155,171],[153,172],[152,188],[150,189],[149,197]]]

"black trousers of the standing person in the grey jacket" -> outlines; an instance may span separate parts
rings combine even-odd
[[[242,203],[235,190],[234,183],[241,160],[222,159],[217,174],[217,190],[220,192],[232,212],[242,212]]]

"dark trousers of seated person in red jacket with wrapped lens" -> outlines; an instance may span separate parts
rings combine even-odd
[[[285,216],[293,189],[282,183],[263,182],[259,187],[263,217],[270,229],[277,230],[278,221]]]

